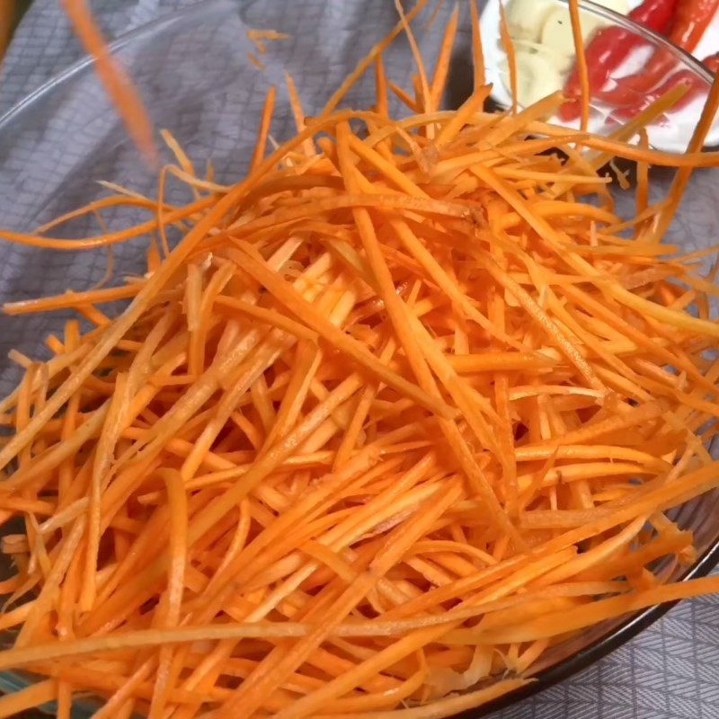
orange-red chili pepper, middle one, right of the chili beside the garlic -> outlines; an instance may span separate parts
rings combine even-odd
[[[719,0],[679,0],[669,39],[680,48],[691,52],[697,47],[697,42],[701,40],[717,8]],[[616,89],[602,93],[601,97],[612,105],[641,102],[644,95],[661,83],[676,64],[676,58],[668,50],[656,49],[642,72],[621,78],[617,81]]]

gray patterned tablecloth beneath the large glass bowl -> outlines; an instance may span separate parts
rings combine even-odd
[[[2,0],[0,0],[2,2]],[[323,62],[342,73],[353,57],[394,22],[391,0],[234,0],[244,22],[259,28],[302,29],[282,53],[302,63],[307,33],[323,40]],[[92,0],[106,33],[115,37],[191,0]],[[299,35],[297,34],[296,37]],[[311,36],[310,36],[311,37]],[[371,44],[371,43],[370,43]],[[316,49],[316,46],[315,46]],[[34,0],[0,74],[0,112],[82,56],[58,0]],[[316,51],[313,62],[317,63]],[[356,55],[356,53],[355,53]],[[321,100],[327,73],[308,67],[303,85]],[[315,83],[313,87],[312,84]],[[633,642],[590,669],[548,688],[496,719],[717,719],[719,717],[719,598],[687,601]]]

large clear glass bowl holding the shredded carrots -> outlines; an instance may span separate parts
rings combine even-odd
[[[562,0],[546,0],[565,6]],[[275,8],[275,29],[292,32],[291,13],[285,16],[282,3],[269,0],[265,7]],[[489,7],[489,5],[488,5]],[[394,22],[390,9],[383,11]],[[644,31],[625,18],[593,4],[586,4],[582,17],[594,18],[601,27],[615,26],[635,33],[644,43],[671,58],[668,75],[682,70],[706,90],[708,73],[683,51],[673,48],[651,32]],[[283,71],[290,70],[298,81],[306,102],[306,111],[319,110],[339,80],[357,59],[388,29],[377,25],[376,35],[360,28],[357,43],[329,43],[322,49],[313,43],[312,32],[304,28],[299,48],[281,49],[278,58],[268,62],[265,72],[253,65],[248,53],[255,48],[246,39],[247,18],[241,19],[227,0],[191,5],[180,13],[164,17],[120,38],[112,45],[134,77],[157,128],[167,128],[197,163],[211,161],[218,182],[233,182],[244,173],[252,155],[264,93],[270,84],[283,82]],[[252,18],[250,18],[250,21]],[[284,22],[284,24],[283,24]],[[329,21],[327,21],[329,22]],[[423,50],[436,53],[441,40],[441,22],[415,23]],[[374,27],[374,26],[373,26]],[[323,26],[313,28],[323,32]],[[326,30],[326,28],[325,28]],[[487,50],[487,74],[497,87],[502,84],[501,53],[497,49],[499,33],[492,35],[489,16],[484,15],[484,45]],[[457,106],[471,84],[471,60],[468,55],[469,24],[463,17],[458,34],[457,53],[452,61],[446,102]],[[494,54],[493,54],[494,48]],[[499,62],[493,64],[493,58]],[[388,51],[386,67],[399,84],[411,84],[411,59],[406,43],[400,41]],[[467,79],[469,78],[469,80]],[[335,82],[336,81],[336,82]],[[303,87],[304,85],[304,87]],[[353,90],[347,103],[371,104],[371,76]],[[496,98],[502,102],[501,97]],[[506,97],[505,97],[506,101]],[[698,117],[697,111],[693,118]],[[595,120],[607,117],[599,111]],[[597,121],[599,121],[597,120]],[[652,144],[662,146],[672,129],[681,129],[686,145],[686,116],[677,120],[667,113],[650,130]],[[286,96],[280,92],[273,136],[287,137],[292,115]],[[682,129],[684,128],[684,129]],[[599,129],[611,132],[615,126],[603,121]],[[658,133],[658,134],[657,134]],[[690,134],[690,130],[689,130]],[[672,137],[679,137],[674,133]],[[664,138],[664,140],[662,140]],[[679,143],[681,144],[681,143]],[[166,151],[163,159],[169,161]],[[652,171],[654,200],[670,187],[672,174]],[[146,195],[155,195],[155,168],[143,163],[129,143],[120,120],[111,111],[90,60],[83,60],[40,87],[23,102],[0,118],[0,218],[2,226],[16,231],[31,231],[54,217],[105,194],[98,181],[111,181]],[[168,188],[168,200],[182,201],[180,190]],[[715,243],[719,227],[719,170],[694,173],[685,200],[670,228],[668,241],[686,251],[706,248]],[[629,216],[634,209],[630,192],[617,190],[619,214]],[[116,229],[138,221],[138,216],[123,207],[109,212],[105,221]],[[98,226],[93,217],[84,217],[53,234],[82,237],[94,234]],[[144,260],[142,242],[116,245],[116,273],[136,271]],[[64,253],[0,244],[0,299],[18,300],[61,292],[67,288],[84,289],[102,279],[107,258],[102,252]],[[708,263],[709,261],[707,261]],[[9,362],[7,352],[14,348],[30,356],[47,356],[44,338],[67,320],[68,315],[0,315],[0,395],[6,395],[17,382],[19,372]],[[675,512],[681,528],[694,532],[697,562],[687,568],[670,569],[669,580],[681,581],[708,573],[719,561],[719,492],[688,503]],[[7,527],[3,533],[9,531]],[[10,571],[2,555],[0,579]],[[644,627],[661,617],[664,605],[638,612],[620,620],[596,626],[564,644],[557,644],[533,668],[537,681],[492,706],[464,716],[487,715],[500,706],[508,706],[587,667],[606,653],[626,643]],[[13,641],[12,633],[0,635],[4,645]],[[10,692],[27,686],[31,677],[21,672],[0,673],[0,690]],[[52,707],[48,707],[52,713]],[[75,716],[92,714],[92,702],[75,705]]]

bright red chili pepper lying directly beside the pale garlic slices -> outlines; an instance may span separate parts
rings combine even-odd
[[[643,4],[629,13],[629,18],[655,32],[666,32],[678,2],[679,0],[644,0]],[[586,49],[590,93],[598,93],[612,72],[633,50],[643,44],[644,40],[639,35],[624,28],[609,27],[597,32]],[[581,96],[581,81],[576,65],[564,84],[564,95],[567,98]],[[563,120],[575,120],[579,114],[578,102],[564,102],[559,109]]]

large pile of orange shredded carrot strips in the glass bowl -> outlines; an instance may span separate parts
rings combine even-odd
[[[719,290],[696,267],[716,248],[661,243],[691,170],[719,164],[707,122],[670,155],[628,140],[676,93],[613,138],[547,124],[559,96],[485,112],[473,11],[457,111],[457,13],[412,93],[382,63],[402,31],[416,47],[401,13],[320,115],[289,85],[297,135],[266,156],[268,94],[241,182],[165,133],[186,206],[118,190],[0,231],[148,243],[141,277],[4,306],[78,319],[51,359],[13,353],[0,404],[0,519],[24,525],[2,537],[0,670],[40,678],[0,716],[88,695],[97,717],[448,716],[586,627],[719,590],[666,583],[696,560],[671,508],[719,485]],[[376,106],[337,110],[373,63]],[[637,163],[628,220],[616,157]],[[652,164],[679,168],[657,204]],[[50,236],[123,203],[146,222]]]

